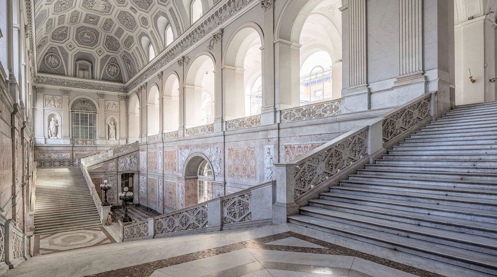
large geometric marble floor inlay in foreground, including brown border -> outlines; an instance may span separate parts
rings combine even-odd
[[[284,232],[89,277],[443,277]]]

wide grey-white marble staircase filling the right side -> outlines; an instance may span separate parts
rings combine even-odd
[[[497,101],[457,106],[288,221],[497,275]]]

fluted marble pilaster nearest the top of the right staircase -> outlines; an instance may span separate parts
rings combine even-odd
[[[399,0],[399,77],[394,91],[406,99],[426,92],[422,0]]]

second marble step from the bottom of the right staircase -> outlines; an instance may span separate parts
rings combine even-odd
[[[306,206],[300,208],[300,210],[301,214],[335,222],[365,227],[423,241],[450,245],[486,254],[497,253],[497,240],[493,238],[414,225],[405,222],[396,222],[383,218],[369,217],[320,207]]]

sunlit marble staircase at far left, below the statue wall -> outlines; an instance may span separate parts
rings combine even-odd
[[[101,226],[78,167],[37,168],[35,196],[36,234]]]

